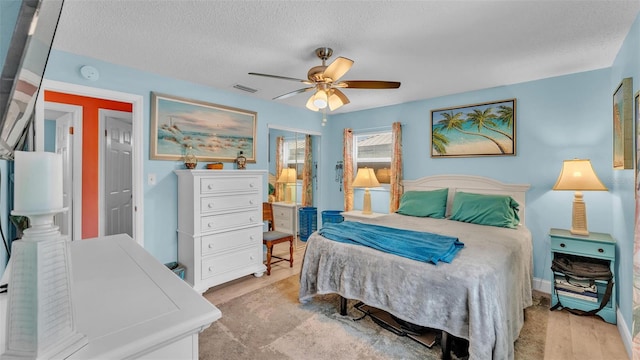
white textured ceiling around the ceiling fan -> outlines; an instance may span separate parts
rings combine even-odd
[[[609,67],[640,1],[65,0],[54,48],[270,100],[318,47],[354,65],[349,112]],[[233,88],[258,89],[249,94]],[[283,100],[304,107],[310,93]]]

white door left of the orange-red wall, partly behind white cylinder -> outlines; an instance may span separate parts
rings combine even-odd
[[[56,153],[62,155],[62,206],[66,212],[55,216],[62,235],[73,239],[73,114],[56,119]]]

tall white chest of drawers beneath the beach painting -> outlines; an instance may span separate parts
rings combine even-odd
[[[262,276],[262,187],[266,171],[176,170],[178,262],[199,292]]]

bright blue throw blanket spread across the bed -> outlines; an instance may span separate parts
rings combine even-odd
[[[464,243],[458,238],[353,221],[329,223],[318,233],[327,239],[358,244],[412,260],[450,263]]]

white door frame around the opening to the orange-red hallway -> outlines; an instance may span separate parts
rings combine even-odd
[[[44,92],[46,90],[132,104],[131,121],[133,129],[133,169],[131,173],[133,175],[133,184],[131,191],[133,193],[133,238],[138,244],[144,247],[144,184],[142,181],[144,166],[142,156],[142,145],[144,141],[144,98],[142,97],[142,95],[137,94],[130,94],[120,91],[93,88],[84,85],[43,79],[36,102],[36,116],[34,124],[34,130],[36,134],[43,134],[45,108]],[[44,149],[44,139],[42,136],[36,136],[35,149],[40,151]]]

